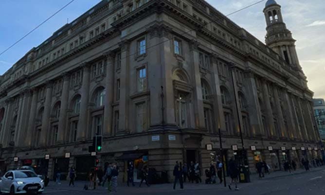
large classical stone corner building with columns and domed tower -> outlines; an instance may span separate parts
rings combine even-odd
[[[132,160],[136,179],[144,164],[171,176],[176,160],[220,160],[218,129],[225,159],[244,149],[251,170],[319,156],[313,92],[280,8],[266,4],[265,45],[204,0],[101,1],[0,77],[0,166],[52,176],[75,165],[82,178],[94,158],[121,171]]]

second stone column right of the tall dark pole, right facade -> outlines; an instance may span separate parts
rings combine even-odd
[[[269,137],[274,137],[276,135],[274,133],[273,113],[272,113],[272,108],[270,103],[269,89],[266,80],[263,81],[262,91],[263,91],[263,99],[264,99],[264,104],[265,104],[266,114],[267,114],[266,123],[267,126],[269,127],[269,129],[266,129],[266,131],[269,130],[267,132]]]

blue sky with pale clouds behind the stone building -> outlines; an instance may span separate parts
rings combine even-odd
[[[0,53],[35,28],[71,0],[0,0]],[[0,55],[0,75],[25,53],[50,37],[57,29],[82,15],[100,0],[74,0],[32,34]],[[228,15],[258,0],[207,0]],[[297,40],[300,64],[315,98],[325,98],[325,3],[324,0],[276,0],[282,6],[287,28]],[[265,2],[229,16],[262,42],[265,42]]]

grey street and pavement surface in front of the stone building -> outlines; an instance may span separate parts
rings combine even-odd
[[[227,184],[230,178],[227,178]],[[69,187],[68,181],[55,184],[53,181],[45,189],[45,195],[107,195],[105,187],[96,190],[83,190],[84,181],[76,181],[74,187]],[[234,186],[233,186],[234,187]],[[239,191],[229,190],[223,184],[195,184],[184,183],[184,189],[173,190],[173,183],[143,185],[127,187],[125,183],[118,185],[117,193],[113,195],[325,195],[325,167],[313,168],[306,172],[297,170],[295,172],[274,172],[258,179],[256,174],[251,175],[250,183],[238,184]]]

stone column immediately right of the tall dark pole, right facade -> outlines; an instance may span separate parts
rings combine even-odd
[[[250,63],[250,62],[249,62]],[[260,137],[264,135],[262,131],[262,113],[258,102],[258,94],[253,71],[246,71],[244,84],[249,91],[247,96],[248,112],[250,114],[250,130],[253,136]]]

